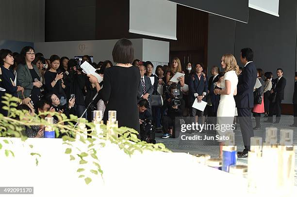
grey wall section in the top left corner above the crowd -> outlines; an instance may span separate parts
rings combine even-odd
[[[1,0],[0,38],[44,42],[45,0]]]

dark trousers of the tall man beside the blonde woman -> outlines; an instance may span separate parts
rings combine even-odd
[[[250,138],[254,136],[251,121],[251,109],[250,108],[237,108],[238,121],[240,124],[240,130],[245,145],[245,150],[250,150]]]

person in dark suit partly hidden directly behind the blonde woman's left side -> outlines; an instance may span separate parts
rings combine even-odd
[[[208,95],[207,95],[207,115],[208,117],[214,117],[216,114],[214,114],[214,108],[212,103],[212,97],[214,95],[214,83],[216,83],[219,79],[220,69],[218,66],[213,66],[211,70],[212,76],[209,78],[208,81]]]

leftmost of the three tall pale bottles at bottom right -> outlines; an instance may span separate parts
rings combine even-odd
[[[247,158],[247,188],[250,193],[258,191],[259,180],[261,180],[262,143],[262,137],[254,136],[250,138],[250,151]]]

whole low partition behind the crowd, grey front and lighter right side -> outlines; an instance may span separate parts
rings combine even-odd
[[[166,64],[169,61],[169,42],[131,39],[134,47],[134,59]],[[41,52],[46,58],[56,54],[69,59],[74,56],[91,55],[94,61],[113,61],[112,51],[117,40],[67,41],[34,43],[36,52]]]

